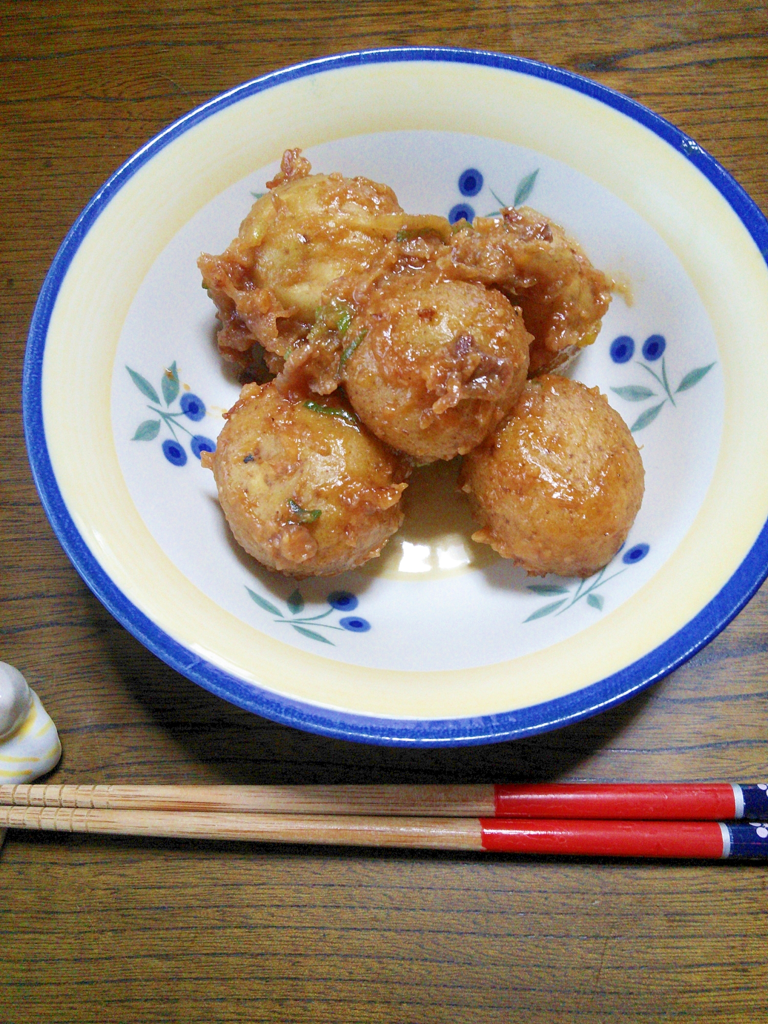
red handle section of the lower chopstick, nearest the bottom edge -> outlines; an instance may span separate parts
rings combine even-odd
[[[494,853],[707,858],[730,853],[728,828],[719,821],[480,818],[480,828],[483,848]]]

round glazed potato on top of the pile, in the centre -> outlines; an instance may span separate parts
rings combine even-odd
[[[349,330],[342,380],[370,430],[417,462],[469,452],[510,410],[530,336],[500,292],[430,267],[382,281]]]

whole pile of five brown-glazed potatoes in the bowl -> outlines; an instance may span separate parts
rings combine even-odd
[[[642,462],[604,396],[549,371],[595,340],[612,283],[535,210],[452,225],[310,172],[287,151],[226,251],[199,260],[222,354],[273,377],[203,458],[238,542],[289,575],[343,572],[399,526],[413,463],[464,455],[474,540],[531,574],[602,567]]]

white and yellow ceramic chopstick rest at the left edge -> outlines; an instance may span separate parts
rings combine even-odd
[[[61,743],[22,673],[0,662],[0,782],[32,782],[58,764]]]

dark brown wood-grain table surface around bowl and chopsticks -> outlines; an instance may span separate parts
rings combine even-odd
[[[669,118],[768,211],[768,15],[749,0],[4,0],[0,658],[58,725],[56,782],[768,777],[768,589],[649,691],[558,732],[409,752],[211,696],[101,607],[25,454],[26,333],[99,184],[272,69],[389,45],[499,50]],[[764,471],[764,467],[761,467]],[[9,833],[0,1020],[765,1021],[768,868]]]

